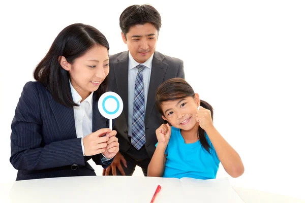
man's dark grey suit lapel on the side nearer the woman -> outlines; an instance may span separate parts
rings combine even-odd
[[[128,125],[128,51],[117,58],[113,63],[114,74],[117,82],[118,94],[123,100],[123,112]]]

